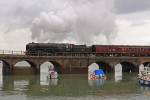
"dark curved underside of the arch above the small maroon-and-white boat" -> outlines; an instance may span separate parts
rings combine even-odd
[[[62,73],[62,66],[59,62],[57,61],[52,61],[52,60],[46,60],[46,61],[43,61],[40,65],[44,64],[45,62],[50,62],[53,64],[54,66],[54,69],[55,71],[57,71],[58,74],[61,74]]]

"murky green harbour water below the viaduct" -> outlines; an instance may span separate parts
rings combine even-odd
[[[88,81],[87,75],[60,75],[58,80],[40,76],[3,76],[0,100],[149,100],[150,88],[138,84],[137,73],[123,73],[122,81],[114,74],[107,81]]]

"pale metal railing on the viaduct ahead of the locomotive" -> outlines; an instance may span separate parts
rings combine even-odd
[[[25,51],[0,50],[0,55],[25,55]]]

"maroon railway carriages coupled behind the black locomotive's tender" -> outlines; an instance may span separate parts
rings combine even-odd
[[[96,56],[150,56],[150,46],[92,45]]]

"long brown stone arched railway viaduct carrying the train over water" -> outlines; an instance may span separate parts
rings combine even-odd
[[[58,73],[87,73],[88,66],[97,63],[106,72],[113,72],[114,66],[120,63],[123,71],[137,72],[141,64],[150,62],[150,57],[95,57],[95,56],[26,56],[16,54],[0,54],[3,62],[3,75],[12,75],[19,70],[20,73],[27,72],[24,68],[17,69],[15,64],[19,61],[26,61],[31,65],[30,71],[34,74],[40,73],[41,64],[51,62]]]

